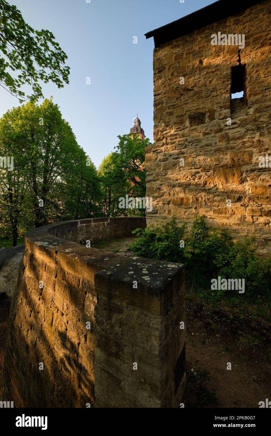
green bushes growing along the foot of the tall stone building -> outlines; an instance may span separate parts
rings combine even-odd
[[[271,257],[259,258],[255,238],[234,242],[228,231],[208,228],[203,216],[196,215],[193,225],[177,226],[176,218],[160,227],[137,229],[139,236],[131,246],[135,255],[183,263],[186,284],[193,288],[211,289],[211,279],[244,279],[246,295],[271,296]],[[184,244],[181,243],[184,241]],[[215,291],[233,296],[235,291]]]

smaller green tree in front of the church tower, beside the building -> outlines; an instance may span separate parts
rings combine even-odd
[[[104,158],[99,167],[104,199],[102,208],[105,216],[144,215],[143,209],[120,209],[119,198],[128,194],[130,197],[144,198],[145,183],[145,148],[151,145],[148,139],[137,136],[118,136],[116,151]]]

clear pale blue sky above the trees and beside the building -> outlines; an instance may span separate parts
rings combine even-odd
[[[8,0],[35,30],[51,31],[67,53],[70,84],[43,85],[77,142],[98,167],[141,119],[153,142],[153,38],[144,34],[213,0]],[[134,36],[137,44],[133,43]],[[86,84],[90,77],[90,85]],[[0,116],[18,100],[0,88]]]

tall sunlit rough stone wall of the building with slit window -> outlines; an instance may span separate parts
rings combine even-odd
[[[154,49],[154,145],[146,149],[153,211],[147,224],[172,215],[191,223],[199,213],[234,236],[254,233],[258,252],[271,253],[270,8],[270,1],[261,2]],[[245,35],[244,99],[231,101],[239,47],[211,45],[219,31]],[[266,153],[269,167],[260,168]]]

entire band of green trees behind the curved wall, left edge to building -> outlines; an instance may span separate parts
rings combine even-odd
[[[53,221],[144,215],[120,209],[119,198],[146,194],[144,157],[149,140],[119,136],[97,172],[52,99],[27,102],[0,119],[0,236],[18,236]]]

